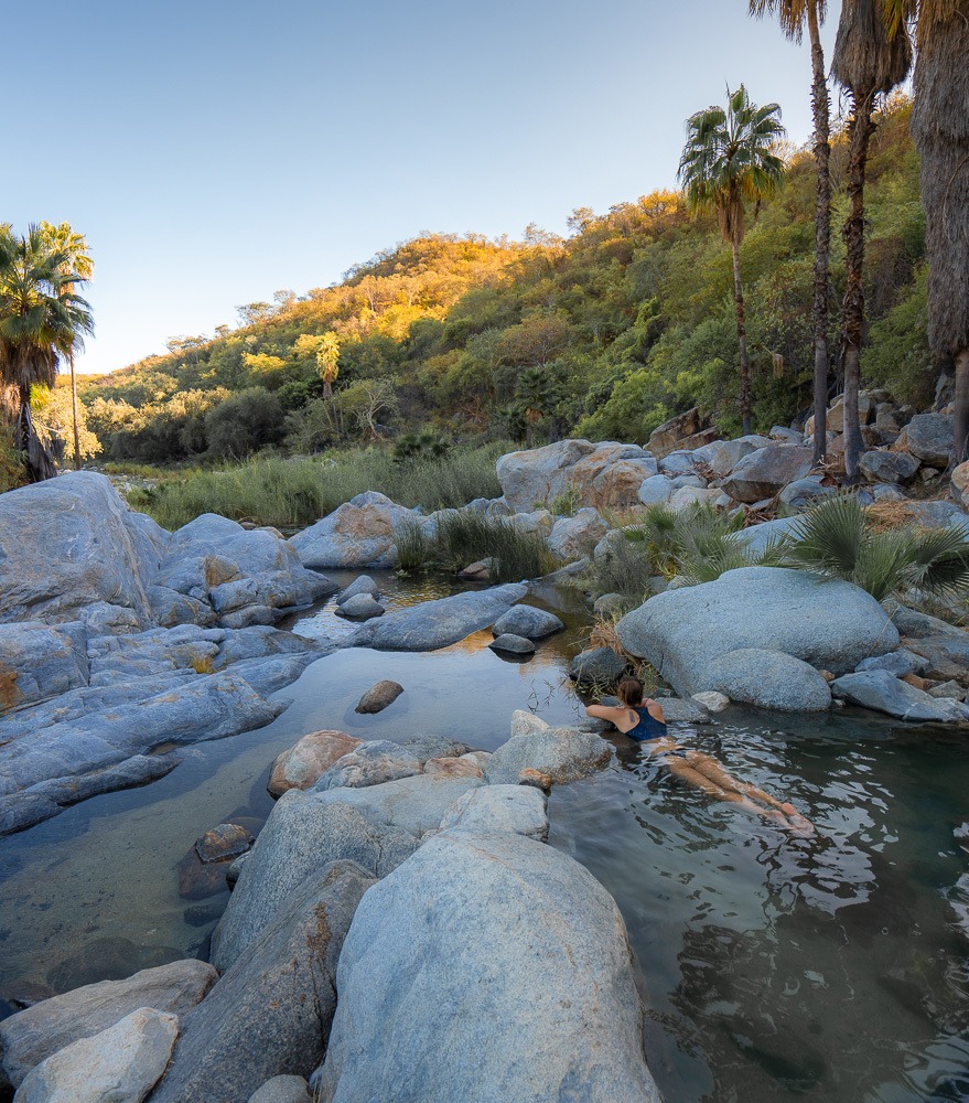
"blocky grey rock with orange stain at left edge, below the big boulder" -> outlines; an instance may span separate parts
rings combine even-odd
[[[0,624],[0,714],[87,685],[88,672],[80,624]]]

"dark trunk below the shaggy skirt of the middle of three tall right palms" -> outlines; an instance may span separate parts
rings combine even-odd
[[[850,208],[842,234],[848,248],[844,281],[841,352],[844,371],[844,474],[849,484],[858,480],[859,461],[864,445],[858,419],[858,387],[861,375],[861,344],[864,339],[864,171],[868,147],[875,125],[872,118],[874,92],[851,92],[851,119],[848,124],[850,160],[848,199]]]

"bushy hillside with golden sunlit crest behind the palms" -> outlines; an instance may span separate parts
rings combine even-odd
[[[880,117],[868,165],[863,368],[918,403],[938,367],[926,343],[909,114],[896,99]],[[846,161],[838,133],[836,229]],[[814,204],[814,161],[794,151],[783,191],[741,249],[755,429],[810,405]],[[713,219],[692,221],[679,193],[654,192],[604,215],[577,210],[570,227],[567,238],[530,228],[523,242],[421,236],[337,286],[248,304],[237,329],[173,340],[168,355],[86,379],[88,427],[108,459],[146,462],[241,459],[274,447],[305,453],[423,426],[460,439],[644,442],[695,405],[737,430],[731,255]],[[843,280],[835,233],[832,335]],[[326,332],[340,339],[332,398],[310,340]]]

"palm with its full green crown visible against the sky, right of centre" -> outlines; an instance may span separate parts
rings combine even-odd
[[[726,93],[726,109],[717,105],[687,120],[687,144],[678,178],[692,214],[714,211],[720,236],[733,249],[733,288],[736,335],[740,342],[740,408],[743,431],[751,431],[751,372],[747,363],[740,246],[744,239],[747,206],[754,216],[784,178],[784,161],[772,152],[786,133],[777,104],[757,107],[746,88]]]

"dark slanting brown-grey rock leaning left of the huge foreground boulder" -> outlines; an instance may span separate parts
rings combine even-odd
[[[356,864],[337,861],[298,886],[262,936],[182,1017],[152,1103],[244,1101],[270,1077],[311,1072],[326,1048],[343,940],[373,884]]]

